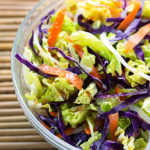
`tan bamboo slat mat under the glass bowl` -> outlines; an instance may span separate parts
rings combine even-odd
[[[54,150],[24,116],[14,92],[10,70],[16,31],[38,1],[0,0],[0,150]]]

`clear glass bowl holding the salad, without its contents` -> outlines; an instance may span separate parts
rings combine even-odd
[[[32,29],[37,27],[42,16],[46,15],[49,11],[55,9],[59,10],[64,6],[63,0],[41,0],[27,15],[18,29],[11,54],[11,71],[12,78],[15,86],[15,91],[20,105],[27,116],[30,123],[37,129],[37,131],[45,138],[45,140],[52,144],[54,147],[61,150],[78,150],[72,145],[59,139],[51,132],[49,132],[36,118],[30,107],[28,106],[27,99],[25,98],[26,85],[23,79],[22,64],[15,59],[15,54],[23,54],[23,47],[28,45],[29,36]]]

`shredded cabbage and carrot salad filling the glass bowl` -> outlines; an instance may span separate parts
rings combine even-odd
[[[65,0],[23,55],[43,126],[83,150],[150,149],[150,1]]]

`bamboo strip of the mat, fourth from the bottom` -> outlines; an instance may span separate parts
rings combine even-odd
[[[32,128],[29,122],[0,122],[0,129]]]

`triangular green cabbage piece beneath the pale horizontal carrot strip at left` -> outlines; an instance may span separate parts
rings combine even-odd
[[[46,92],[41,96],[40,102],[61,102],[64,101],[61,94],[54,87],[54,85],[50,84],[46,90]]]

